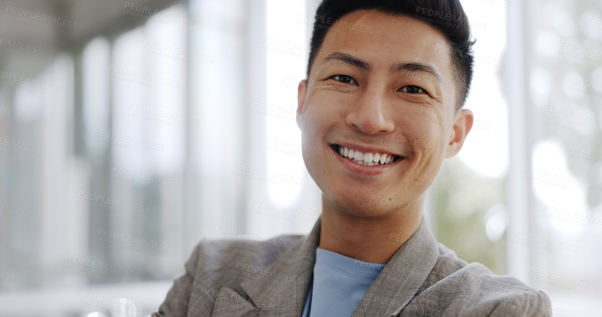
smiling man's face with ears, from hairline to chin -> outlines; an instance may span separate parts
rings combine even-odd
[[[435,48],[449,48],[436,29],[373,10],[327,32],[299,85],[297,125],[309,174],[341,211],[370,217],[420,203],[462,147],[472,115],[456,113],[451,57]]]

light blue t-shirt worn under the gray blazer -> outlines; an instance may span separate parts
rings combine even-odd
[[[385,264],[315,249],[314,278],[302,317],[349,317]]]

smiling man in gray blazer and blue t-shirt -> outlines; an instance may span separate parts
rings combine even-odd
[[[457,0],[324,0],[297,97],[320,218],[201,242],[154,316],[550,316],[544,292],[458,259],[423,220],[473,124],[472,44]]]

